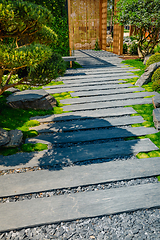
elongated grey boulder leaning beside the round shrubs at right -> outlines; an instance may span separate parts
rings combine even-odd
[[[151,64],[145,70],[145,72],[142,74],[142,76],[137,80],[135,85],[141,87],[142,85],[149,83],[151,81],[152,74],[159,67],[160,67],[160,62]]]

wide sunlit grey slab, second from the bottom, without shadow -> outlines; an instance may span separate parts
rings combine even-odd
[[[160,158],[133,159],[0,177],[0,197],[160,175]]]

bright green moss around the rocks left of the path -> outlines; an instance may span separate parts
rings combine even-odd
[[[0,128],[7,131],[19,129],[23,132],[23,140],[30,137],[35,137],[38,132],[35,130],[29,130],[30,127],[38,126],[40,123],[36,120],[30,120],[31,117],[35,116],[45,116],[51,114],[61,114],[63,113],[60,100],[72,98],[70,92],[64,92],[60,94],[53,94],[54,98],[57,100],[57,106],[53,110],[23,110],[23,109],[13,109],[6,104],[6,97],[10,92],[4,92],[0,96]],[[31,152],[31,151],[42,151],[47,149],[46,144],[23,144],[20,148],[4,148],[0,147],[0,154],[11,155],[19,151]]]

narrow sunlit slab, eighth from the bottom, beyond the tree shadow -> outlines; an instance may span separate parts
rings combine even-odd
[[[60,100],[63,104],[81,104],[89,102],[105,102],[111,100],[125,100],[125,99],[134,99],[134,98],[143,98],[146,96],[152,96],[154,92],[138,92],[138,93],[122,93],[114,95],[103,95],[103,96],[93,96],[93,97],[81,97],[81,98],[69,98]]]

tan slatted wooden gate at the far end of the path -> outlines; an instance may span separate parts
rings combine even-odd
[[[70,49],[106,50],[107,0],[68,0]]]

